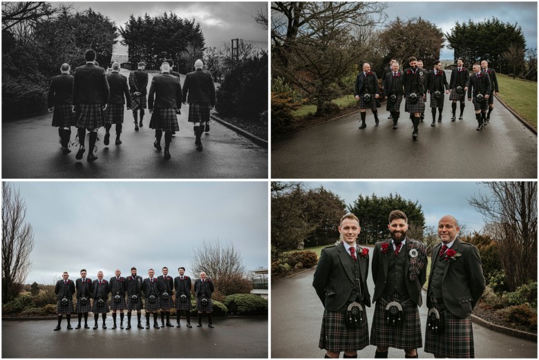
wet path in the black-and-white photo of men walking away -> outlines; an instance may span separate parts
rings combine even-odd
[[[150,74],[149,84],[152,77]],[[71,147],[72,153],[62,155],[57,128],[50,126],[52,113],[2,122],[2,178],[267,178],[267,149],[210,122],[209,133],[202,135],[204,150],[196,151],[193,126],[187,122],[189,105],[182,105],[181,111],[180,131],[171,142],[170,160],[164,160],[163,152],[153,148],[155,131],[148,127],[148,109],[144,127],[138,132],[134,130],[131,111],[124,110],[121,145],[114,144],[113,126],[111,144],[104,146],[105,130],[101,128],[98,159],[93,163],[86,162],[88,140],[82,160],[75,160],[78,146]],[[73,127],[71,141],[75,135]]]

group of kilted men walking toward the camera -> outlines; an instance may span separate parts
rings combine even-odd
[[[444,109],[444,94],[449,94],[451,100],[451,121],[455,121],[457,102],[460,102],[460,117],[463,119],[464,101],[466,92],[468,100],[473,102],[475,117],[477,120],[477,130],[490,121],[491,112],[494,107],[494,96],[498,94],[498,79],[493,68],[489,68],[488,61],[483,60],[481,64],[474,64],[473,71],[477,79],[470,77],[469,70],[464,68],[464,60],[457,59],[457,67],[451,72],[450,82],[447,82],[446,73],[442,70],[439,60],[433,62],[433,70],[426,70],[422,60],[416,57],[408,59],[410,68],[399,70],[399,64],[395,58],[390,60],[390,66],[384,69],[382,74],[383,91],[379,91],[376,73],[370,71],[370,64],[363,64],[363,71],[356,77],[354,95],[359,102],[361,114],[361,125],[359,129],[366,128],[366,109],[370,108],[375,116],[375,124],[379,124],[377,104],[379,104],[380,93],[383,93],[387,100],[386,110],[390,112],[390,119],[393,119],[393,129],[397,129],[399,121],[400,106],[403,98],[406,99],[404,111],[410,113],[410,120],[413,123],[412,138],[417,139],[419,133],[419,123],[423,121],[425,112],[426,94],[431,94],[431,111],[433,122],[431,126],[436,126],[436,109],[439,111],[437,122],[442,122],[442,111]],[[477,72],[476,69],[477,68]],[[488,113],[487,113],[488,110]]]

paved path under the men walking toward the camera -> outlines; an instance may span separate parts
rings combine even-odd
[[[536,178],[537,136],[500,102],[476,131],[473,104],[466,100],[464,120],[451,122],[448,99],[442,123],[431,127],[428,98],[417,141],[404,101],[396,130],[383,104],[379,126],[368,110],[366,129],[358,129],[355,113],[272,138],[272,178]]]

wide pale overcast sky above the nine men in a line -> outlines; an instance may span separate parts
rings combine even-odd
[[[267,268],[267,182],[14,182],[34,230],[26,283],[82,268],[105,278],[132,266],[178,276],[202,240],[230,241],[247,270]]]

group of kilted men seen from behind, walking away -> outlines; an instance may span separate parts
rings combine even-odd
[[[120,145],[120,134],[124,122],[124,106],[133,110],[135,131],[143,126],[144,108],[152,114],[150,128],[155,129],[153,146],[161,151],[160,140],[164,131],[164,158],[171,157],[169,145],[172,135],[179,130],[177,114],[180,114],[182,102],[189,101],[189,122],[193,122],[196,136],[196,149],[202,151],[200,135],[209,131],[209,112],[216,103],[215,86],[211,74],[203,71],[204,64],[198,59],[196,71],[188,73],[182,91],[180,74],[172,71],[174,66],[167,59],[161,66],[162,73],[153,77],[146,100],[148,73],[144,72],[146,64],[138,63],[138,70],[133,71],[128,79],[120,75],[120,64],[112,64],[111,73],[106,75],[104,68],[95,63],[95,51],[86,50],[86,65],[75,69],[70,75],[70,65],[62,64],[61,75],[53,77],[48,91],[48,109],[53,114],[53,126],[58,127],[62,153],[70,153],[71,126],[77,127],[79,150],[75,158],[81,160],[86,148],[84,146],[86,130],[89,132],[90,150],[86,160],[97,160],[97,130],[104,126],[106,133],[104,144],[110,142],[110,129],[115,124],[115,144]],[[189,81],[187,81],[189,79]],[[189,98],[187,95],[189,94]],[[155,101],[154,101],[155,97]],[[126,105],[127,104],[127,105]],[[140,120],[139,118],[140,111]]]

